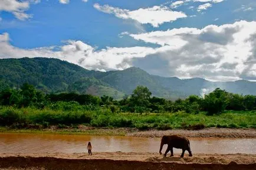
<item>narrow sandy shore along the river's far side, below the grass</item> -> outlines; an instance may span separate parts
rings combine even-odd
[[[230,128],[206,128],[201,130],[173,129],[167,131],[139,131],[136,128],[93,128],[89,126],[77,126],[77,128],[57,128],[51,126],[46,129],[10,129],[0,128],[0,132],[14,133],[45,133],[45,134],[70,134],[91,136],[134,136],[144,138],[158,138],[163,135],[180,134],[191,138],[256,138],[256,129],[230,129]]]

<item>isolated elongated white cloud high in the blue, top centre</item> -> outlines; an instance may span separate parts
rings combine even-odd
[[[166,6],[153,6],[152,8],[140,8],[134,11],[120,9],[109,5],[94,4],[94,8],[106,14],[114,14],[122,19],[134,19],[140,24],[151,24],[158,27],[164,22],[176,21],[187,17],[183,12],[172,11]]]

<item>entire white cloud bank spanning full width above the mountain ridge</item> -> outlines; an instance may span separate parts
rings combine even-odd
[[[22,49],[12,46],[9,35],[4,33],[0,34],[0,58],[53,57],[101,71],[139,66],[150,74],[162,76],[214,81],[256,80],[256,21],[129,36],[160,47],[96,49],[84,42],[69,40],[57,47]]]

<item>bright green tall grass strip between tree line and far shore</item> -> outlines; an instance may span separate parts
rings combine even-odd
[[[78,125],[95,127],[131,127],[147,129],[202,129],[207,127],[256,128],[256,113],[253,111],[228,111],[221,115],[207,116],[204,112],[165,114],[112,113],[110,109],[87,111],[84,109],[35,109],[0,107],[0,125]]]

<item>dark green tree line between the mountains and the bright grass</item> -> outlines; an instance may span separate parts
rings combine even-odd
[[[146,86],[137,86],[132,95],[125,95],[120,101],[111,96],[93,96],[87,94],[60,93],[45,94],[33,85],[23,84],[19,89],[6,88],[0,92],[0,104],[17,108],[45,107],[72,109],[83,106],[88,110],[109,108],[111,112],[178,112],[198,114],[205,111],[208,115],[221,114],[225,110],[251,111],[256,108],[256,96],[232,94],[220,88],[206,94],[204,98],[191,95],[186,99],[170,101],[152,96]]]

